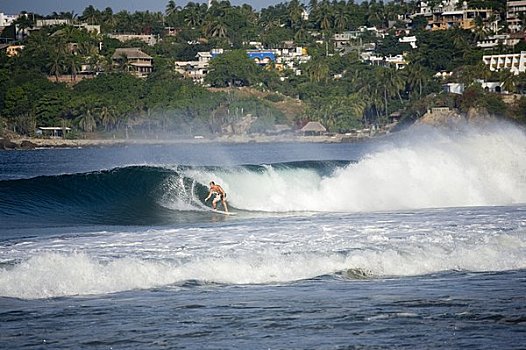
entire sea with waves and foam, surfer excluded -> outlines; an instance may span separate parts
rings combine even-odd
[[[516,127],[0,152],[2,349],[524,344]]]

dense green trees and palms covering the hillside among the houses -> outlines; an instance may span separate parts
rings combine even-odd
[[[470,6],[491,7],[497,12],[505,2],[468,1]],[[484,6],[481,4],[483,3]],[[21,134],[32,134],[35,126],[73,126],[87,134],[101,132],[118,136],[150,136],[160,133],[181,135],[235,132],[245,116],[256,117],[252,132],[264,132],[275,123],[319,120],[330,131],[348,132],[388,123],[393,112],[401,111],[414,120],[429,107],[448,105],[467,111],[484,107],[524,121],[524,98],[507,106],[500,97],[488,94],[477,79],[502,81],[510,92],[524,93],[524,74],[490,72],[481,64],[483,53],[504,53],[503,46],[483,52],[477,40],[489,33],[477,21],[473,31],[424,30],[425,18],[413,19],[412,35],[417,48],[401,43],[400,14],[415,12],[415,3],[298,0],[255,11],[249,5],[233,6],[214,1],[212,6],[188,2],[184,7],[168,1],[164,12],[114,12],[88,6],[79,15],[71,12],[49,16],[28,14],[2,33],[21,39],[25,48],[15,57],[0,53],[0,122]],[[308,16],[306,16],[308,14]],[[134,41],[122,43],[106,35],[71,25],[32,31],[33,20],[70,19],[101,25],[102,32],[153,34],[162,39],[154,46]],[[362,32],[360,45],[376,45],[375,54],[404,54],[404,69],[374,66],[360,60],[361,46],[351,43],[341,52],[334,50],[333,34],[375,26],[389,29],[384,35]],[[167,29],[175,36],[167,35]],[[267,48],[295,42],[307,49],[311,60],[299,67],[301,75],[273,65],[261,67],[244,49],[259,41]],[[515,49],[521,49],[518,44]],[[112,64],[120,47],[139,47],[154,58],[154,72],[146,79],[126,73]],[[182,79],[173,70],[175,60],[194,60],[200,51],[223,48],[225,53],[210,63],[206,83],[214,88],[252,87],[265,98],[216,91]],[[96,77],[80,79],[82,65],[90,65]],[[445,78],[437,72],[452,72]],[[68,83],[62,83],[68,76]],[[463,96],[442,93],[450,81],[465,84]],[[285,115],[277,107],[282,101],[300,99],[306,109]]]

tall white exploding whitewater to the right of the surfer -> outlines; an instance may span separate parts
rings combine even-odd
[[[314,170],[201,172],[217,179],[239,209],[256,211],[393,210],[526,202],[526,135],[511,126],[456,133],[415,130],[357,164]]]

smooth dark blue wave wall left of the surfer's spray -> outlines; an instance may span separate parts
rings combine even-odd
[[[158,204],[162,184],[177,172],[126,167],[0,182],[0,217],[16,226],[154,224],[173,214]]]

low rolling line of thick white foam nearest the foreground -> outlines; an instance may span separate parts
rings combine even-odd
[[[513,241],[513,247],[509,242]],[[504,241],[504,242],[503,242]],[[507,249],[502,248],[506,246]],[[441,247],[406,251],[358,250],[342,253],[255,253],[194,257],[185,263],[120,258],[99,261],[86,254],[44,253],[12,269],[0,270],[0,295],[19,298],[105,294],[197,280],[206,283],[292,282],[339,271],[369,277],[411,276],[447,270],[500,271],[526,268],[526,242],[502,238],[475,249]]]

